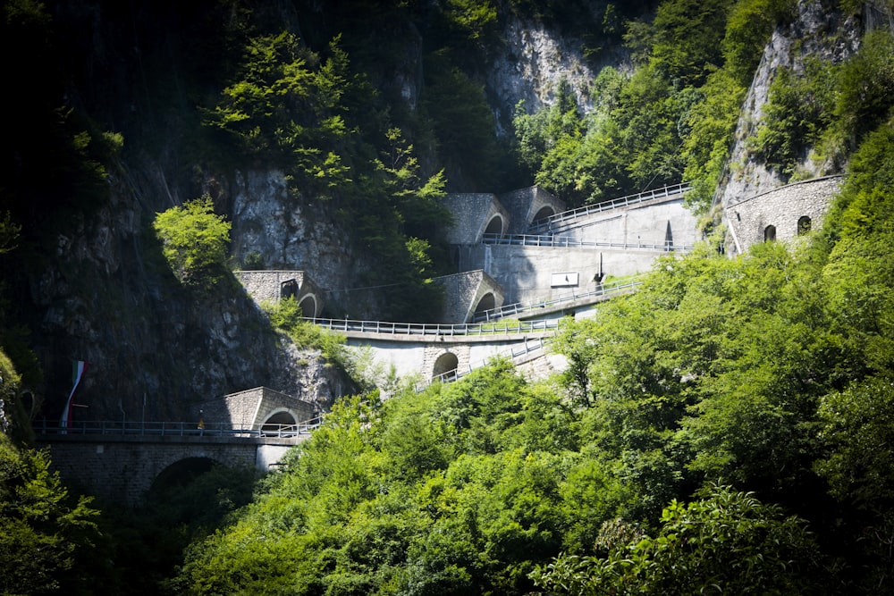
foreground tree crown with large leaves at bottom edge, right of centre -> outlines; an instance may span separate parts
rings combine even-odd
[[[715,486],[671,501],[654,538],[615,543],[605,557],[563,555],[533,577],[557,594],[803,594],[823,586],[822,572],[805,520]]]

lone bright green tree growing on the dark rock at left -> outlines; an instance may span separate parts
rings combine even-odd
[[[203,289],[223,279],[230,227],[215,214],[208,195],[156,214],[153,222],[174,275],[185,285]]]

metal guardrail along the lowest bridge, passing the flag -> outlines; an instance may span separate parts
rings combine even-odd
[[[114,435],[154,437],[297,437],[309,434],[323,421],[316,416],[298,424],[253,424],[249,427],[207,422],[145,422],[122,420],[71,420],[68,424],[44,420],[34,426],[41,435]]]

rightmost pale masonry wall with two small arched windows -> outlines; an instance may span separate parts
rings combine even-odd
[[[780,241],[797,238],[797,222],[803,216],[810,218],[812,229],[818,229],[842,181],[842,176],[805,180],[724,206],[728,254],[744,253],[763,242],[767,226],[776,228]]]

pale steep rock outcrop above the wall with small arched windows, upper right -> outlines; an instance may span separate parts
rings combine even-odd
[[[856,52],[859,28],[854,22],[842,19],[840,13],[832,10],[828,4],[831,3],[800,0],[797,4],[797,20],[789,27],[774,31],[770,43],[764,48],[761,63],[739,116],[729,173],[718,189],[717,197],[721,205],[729,206],[789,181],[780,172],[769,170],[755,161],[748,151],[747,143],[756,134],[770,94],[770,86],[780,68],[803,71],[805,61],[810,56],[839,63]],[[809,157],[805,157],[799,170],[805,172],[805,177],[839,173],[831,166],[813,164]]]

